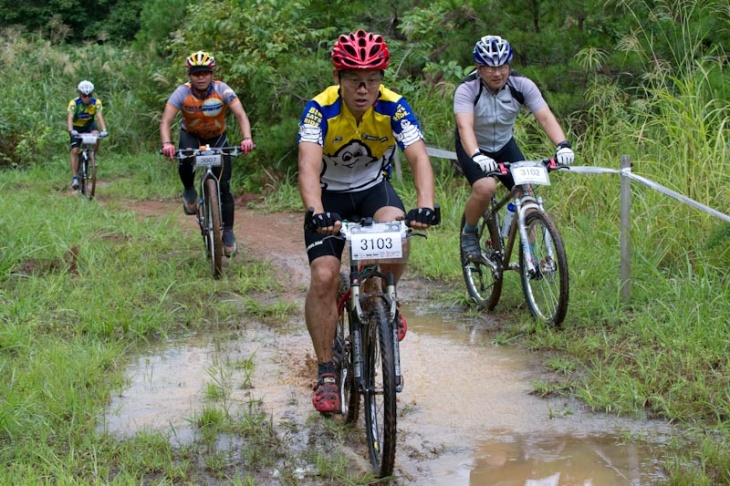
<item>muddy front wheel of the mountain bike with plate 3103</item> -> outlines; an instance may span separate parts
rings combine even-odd
[[[364,328],[365,434],[370,463],[380,477],[390,476],[395,464],[396,383],[392,323],[382,300],[371,302],[370,321]]]

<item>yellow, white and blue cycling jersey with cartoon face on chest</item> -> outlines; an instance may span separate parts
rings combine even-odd
[[[383,179],[396,144],[405,150],[423,140],[421,127],[401,95],[380,86],[375,104],[358,124],[342,102],[339,86],[330,86],[304,107],[298,142],[322,146],[322,188],[363,191]]]

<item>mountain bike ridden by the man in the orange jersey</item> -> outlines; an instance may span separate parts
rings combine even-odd
[[[162,153],[160,151],[160,153]],[[240,147],[183,148],[175,151],[178,160],[195,157],[195,168],[203,169],[200,178],[200,201],[196,215],[200,233],[205,244],[205,254],[210,262],[213,278],[220,278],[223,269],[223,210],[220,198],[220,179],[213,173],[213,167],[221,167],[224,156],[238,157],[243,154]]]

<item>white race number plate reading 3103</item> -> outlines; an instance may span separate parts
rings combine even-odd
[[[372,226],[352,228],[350,233],[352,260],[390,260],[403,257],[400,226],[374,223]]]

